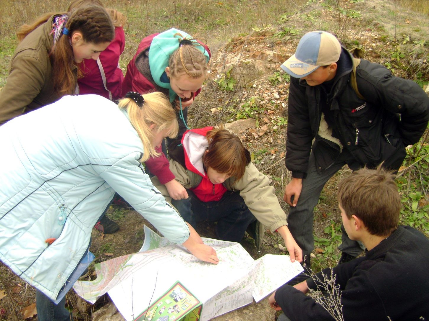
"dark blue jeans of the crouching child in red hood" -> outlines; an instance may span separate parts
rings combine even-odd
[[[188,199],[172,200],[181,217],[195,227],[197,222],[218,222],[215,227],[219,240],[240,242],[250,223],[256,218],[249,211],[239,192],[227,191],[219,201],[202,202],[187,190]]]

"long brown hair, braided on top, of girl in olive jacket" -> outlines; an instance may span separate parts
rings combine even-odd
[[[109,14],[100,6],[85,6],[69,12],[65,25],[72,36],[74,32],[82,33],[83,40],[93,44],[111,42],[115,29]],[[73,71],[73,48],[69,36],[61,35],[52,47],[52,78],[54,91],[61,97],[72,95],[76,88],[77,77]],[[79,74],[78,74],[79,77]]]

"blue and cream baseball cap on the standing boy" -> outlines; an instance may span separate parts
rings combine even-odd
[[[295,54],[280,67],[292,77],[302,78],[320,66],[337,62],[340,54],[341,45],[334,35],[325,31],[312,31],[302,36]]]

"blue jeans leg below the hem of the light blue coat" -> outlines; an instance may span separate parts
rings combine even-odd
[[[55,304],[42,291],[36,290],[37,320],[39,321],[70,321],[72,313],[66,307],[66,297]]]

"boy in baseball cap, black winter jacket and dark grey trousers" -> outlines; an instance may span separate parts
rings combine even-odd
[[[397,171],[405,146],[417,143],[426,129],[429,98],[417,83],[353,58],[324,31],[305,34],[281,68],[291,75],[286,167],[292,181],[284,201],[291,206],[290,232],[309,268],[313,208],[323,186],[345,164],[356,170],[383,163]],[[343,230],[339,249],[341,263],[358,256],[363,247]]]

